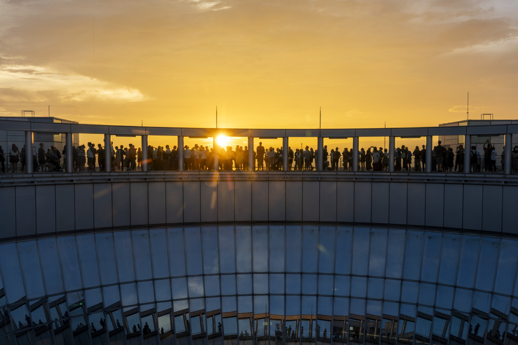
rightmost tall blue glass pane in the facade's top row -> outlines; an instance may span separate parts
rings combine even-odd
[[[504,238],[500,247],[496,271],[495,292],[510,295],[513,291],[513,276],[518,262],[518,241]],[[518,284],[516,284],[518,287]]]

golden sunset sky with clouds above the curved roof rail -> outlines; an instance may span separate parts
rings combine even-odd
[[[516,0],[0,0],[0,115],[436,126],[517,91]]]

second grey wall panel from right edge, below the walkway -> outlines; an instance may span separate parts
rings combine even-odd
[[[485,185],[482,192],[482,230],[500,232],[502,231],[502,186]],[[518,203],[515,202],[515,205]]]

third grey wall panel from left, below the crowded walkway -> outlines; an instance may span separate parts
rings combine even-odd
[[[36,233],[54,232],[56,232],[55,187],[53,185],[36,186]]]

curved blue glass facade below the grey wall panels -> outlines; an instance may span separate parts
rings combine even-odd
[[[518,239],[331,226],[0,245],[0,344],[518,343]]]

